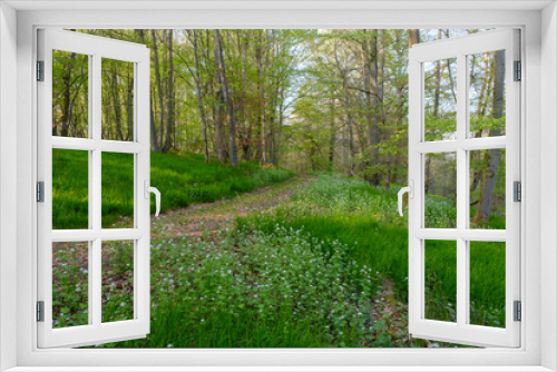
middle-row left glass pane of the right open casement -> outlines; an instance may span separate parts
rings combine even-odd
[[[424,227],[457,227],[457,154],[426,154],[423,177]]]

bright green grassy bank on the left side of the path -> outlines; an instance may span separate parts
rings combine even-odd
[[[88,154],[81,150],[52,150],[52,227],[88,228]],[[104,153],[102,227],[130,227],[134,215],[134,159],[129,154]],[[160,211],[194,203],[211,203],[290,178],[278,167],[261,168],[242,163],[233,168],[216,161],[205,164],[198,154],[150,156],[150,184],[162,193]],[[152,213],[155,202],[152,197]],[[128,219],[123,218],[128,217]]]

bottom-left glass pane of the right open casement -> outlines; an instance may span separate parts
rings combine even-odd
[[[426,241],[426,314],[457,322],[457,242]]]

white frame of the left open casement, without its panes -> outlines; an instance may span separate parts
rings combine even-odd
[[[43,301],[43,322],[38,322],[39,347],[94,345],[100,342],[143,339],[150,330],[150,51],[146,46],[109,38],[40,29],[38,58],[43,61],[43,81],[38,94],[38,180],[43,182],[43,203],[37,205],[38,300]],[[52,52],[63,50],[87,56],[89,90],[88,138],[52,136]],[[134,65],[133,141],[105,140],[101,106],[102,59]],[[52,229],[52,149],[86,150],[89,158],[87,229]],[[123,153],[133,156],[134,226],[101,227],[101,157]],[[134,317],[102,323],[102,242],[133,241]],[[88,242],[88,322],[79,326],[52,327],[52,243]]]

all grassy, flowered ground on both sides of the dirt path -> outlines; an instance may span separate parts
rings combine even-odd
[[[227,197],[240,187],[251,190],[291,175],[244,165],[215,182],[218,170],[212,167],[224,166],[204,165],[196,156],[186,159],[154,156],[153,185],[163,196],[165,187],[177,188],[180,179],[204,182],[213,192],[194,194],[195,187],[182,184],[189,198],[170,198],[165,209]],[[177,160],[189,164],[183,168],[187,174],[163,170],[167,161]],[[196,164],[207,170],[196,169]],[[251,196],[253,212],[237,216],[229,228],[209,232],[202,223],[199,234],[154,237],[150,334],[97,347],[424,346],[401,332],[408,324],[408,222],[398,215],[399,188],[371,187],[338,174],[293,184],[297,186],[287,195],[276,184],[271,188],[276,194]],[[287,197],[274,207],[257,209],[262,199],[283,194]],[[212,213],[225,213],[226,203],[252,208],[245,197],[216,205]],[[440,222],[455,213],[443,198],[429,198],[426,205],[427,214]],[[492,216],[494,223],[501,224],[497,218]],[[133,316],[133,251],[119,244],[107,245],[104,253],[107,322]],[[86,252],[87,246],[78,244],[55,249],[60,263],[55,272],[56,326],[87,323],[87,265],[79,260]],[[426,316],[455,322],[455,242],[427,242],[426,261]],[[472,324],[505,326],[504,244],[473,243],[470,270]],[[390,298],[384,298],[387,281],[393,288]],[[394,313],[385,310],[387,302]]]

